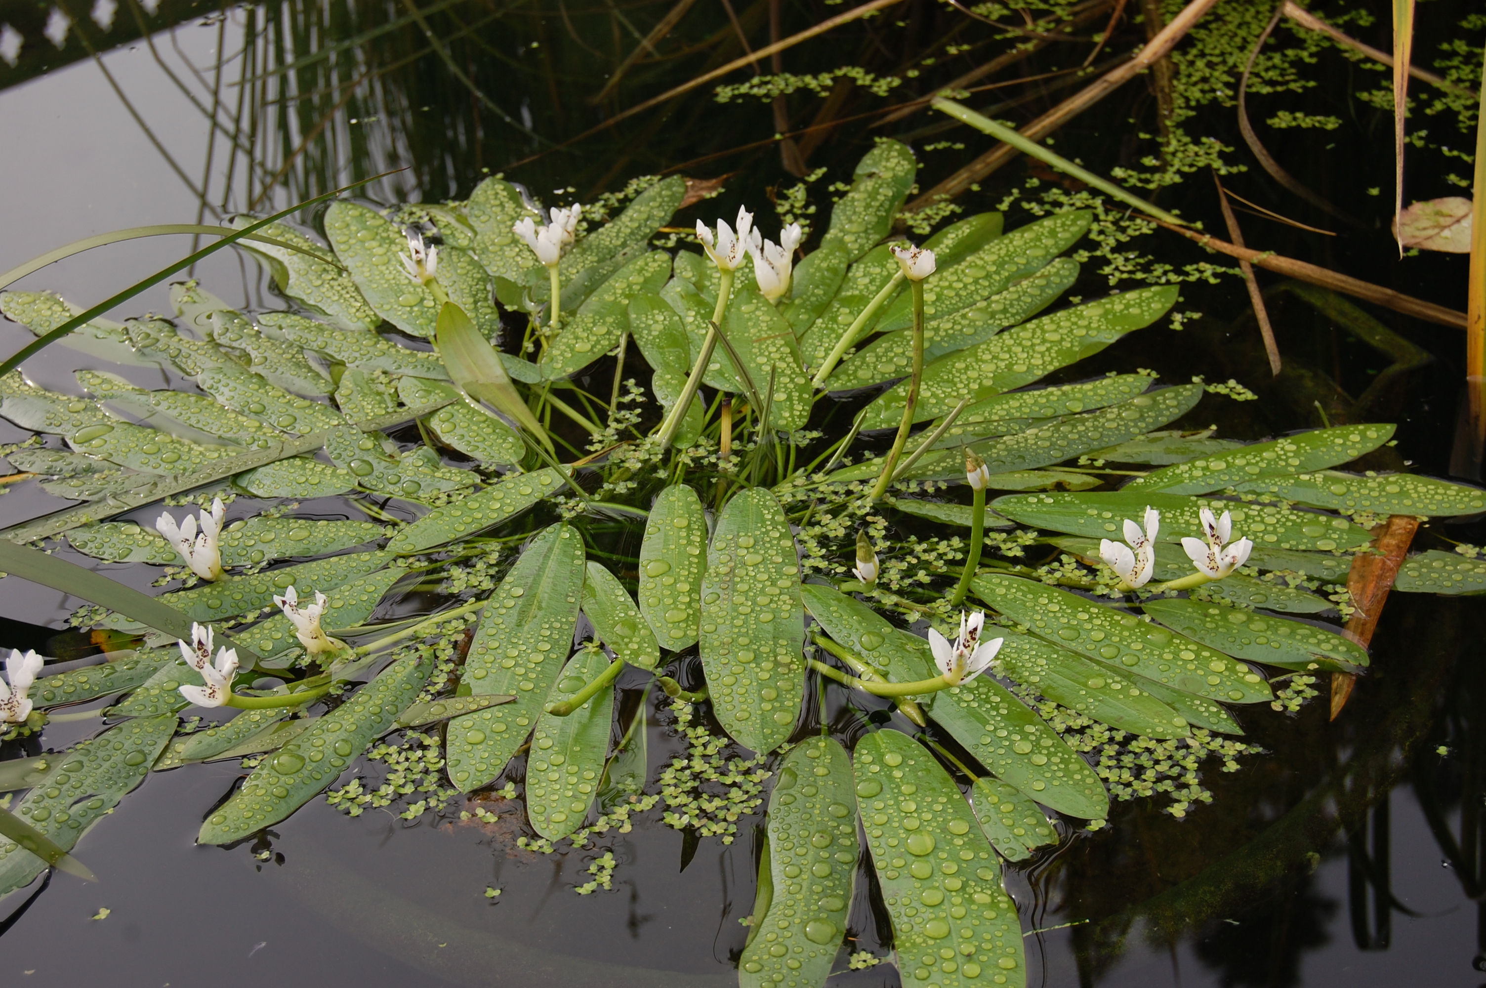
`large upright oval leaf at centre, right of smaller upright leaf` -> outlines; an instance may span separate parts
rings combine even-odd
[[[755,752],[789,737],[804,685],[805,615],[789,520],[773,493],[722,508],[701,582],[701,667],[718,724]]]

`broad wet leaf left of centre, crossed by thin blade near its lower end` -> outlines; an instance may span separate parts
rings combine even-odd
[[[568,524],[548,526],[480,612],[461,685],[516,701],[449,722],[449,779],[459,792],[499,776],[536,724],[572,651],[584,575],[583,538]]]

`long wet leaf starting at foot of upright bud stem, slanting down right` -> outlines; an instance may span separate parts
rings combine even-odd
[[[1067,590],[999,573],[976,576],[972,588],[981,600],[1027,625],[1033,634],[1089,658],[1119,663],[1126,673],[1223,703],[1272,698],[1263,676],[1244,663],[1141,621],[1134,614]]]

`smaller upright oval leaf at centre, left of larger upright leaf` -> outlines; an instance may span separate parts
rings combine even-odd
[[[639,563],[640,614],[663,648],[679,652],[697,640],[706,569],[701,501],[691,487],[672,484],[651,505]]]

